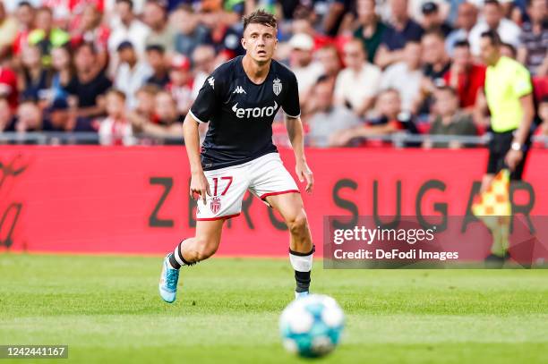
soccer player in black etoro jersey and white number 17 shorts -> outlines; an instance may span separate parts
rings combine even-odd
[[[196,234],[164,259],[159,293],[176,300],[179,269],[210,258],[218,249],[225,220],[238,216],[249,190],[283,216],[290,232],[289,260],[295,269],[295,297],[306,295],[313,265],[313,242],[303,200],[272,144],[272,121],[281,107],[295,152],[295,172],[313,190],[304,157],[303,124],[295,74],[272,60],[277,21],[258,10],[244,17],[244,56],[210,74],[184,120],[184,143],[198,199]],[[199,123],[210,122],[200,151]],[[258,241],[260,243],[260,241]]]

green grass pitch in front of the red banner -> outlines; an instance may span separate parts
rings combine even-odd
[[[69,345],[69,360],[39,363],[311,362],[278,337],[293,297],[287,259],[184,268],[172,305],[158,297],[160,265],[159,257],[2,254],[0,344]],[[548,270],[324,270],[317,262],[313,291],[347,315],[343,343],[322,364],[548,358]]]

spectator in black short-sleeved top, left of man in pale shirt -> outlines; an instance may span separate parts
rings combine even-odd
[[[95,47],[82,43],[74,55],[76,74],[66,87],[66,91],[76,97],[77,114],[84,117],[95,117],[104,114],[103,96],[112,86],[105,72],[97,63]]]

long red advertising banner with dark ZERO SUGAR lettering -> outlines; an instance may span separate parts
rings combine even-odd
[[[291,150],[281,150],[294,174]],[[321,253],[324,216],[471,216],[485,149],[307,149],[303,193]],[[534,150],[514,212],[548,216],[548,150]],[[193,235],[195,202],[182,147],[0,147],[0,251],[150,253]],[[304,185],[300,185],[304,189]],[[474,223],[480,224],[480,223]],[[286,255],[281,218],[246,195],[218,254]]]

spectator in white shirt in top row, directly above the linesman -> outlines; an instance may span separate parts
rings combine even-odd
[[[516,23],[504,18],[501,4],[497,0],[485,0],[483,15],[484,20],[475,24],[468,38],[473,55],[479,55],[480,38],[486,30],[495,30],[503,42],[509,43],[513,47],[519,46],[521,30]]]

